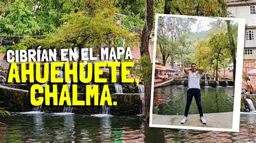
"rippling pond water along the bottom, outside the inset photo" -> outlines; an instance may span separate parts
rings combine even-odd
[[[5,141],[255,141],[256,115],[241,115],[240,132],[212,132],[149,127],[138,116],[92,117],[83,115],[12,114],[1,117]],[[1,134],[1,133],[0,133]],[[1,138],[0,138],[1,139]],[[1,141],[0,141],[1,142]]]

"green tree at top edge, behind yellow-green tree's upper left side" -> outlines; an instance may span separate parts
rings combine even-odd
[[[36,22],[40,26],[40,33],[52,33],[65,21],[63,16],[84,10],[85,2],[73,1],[33,1],[31,5],[35,12]]]

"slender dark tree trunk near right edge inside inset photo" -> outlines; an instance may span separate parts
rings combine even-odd
[[[227,23],[227,36],[228,36],[228,41],[230,41],[230,52],[231,52],[231,56],[232,56],[232,60],[233,60],[233,82],[235,85],[235,67],[237,67],[236,63],[237,60],[235,59],[235,44],[234,44],[234,39],[233,39],[233,35],[231,33],[231,27],[230,27],[230,20],[226,20]]]

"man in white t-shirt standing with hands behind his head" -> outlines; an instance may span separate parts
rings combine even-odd
[[[190,109],[190,105],[194,98],[196,99],[198,111],[200,114],[200,120],[203,124],[206,124],[206,120],[204,119],[203,115],[203,108],[201,105],[201,90],[200,90],[200,78],[203,74],[204,69],[203,68],[197,68],[196,63],[191,64],[191,68],[185,68],[184,69],[187,77],[188,77],[188,87],[187,87],[187,103],[185,108],[185,114],[184,118],[181,120],[181,124],[186,123],[187,116],[188,116],[188,110]]]

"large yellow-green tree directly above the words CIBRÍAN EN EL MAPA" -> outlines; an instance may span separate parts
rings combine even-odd
[[[104,6],[103,6],[104,5]],[[120,38],[124,38],[126,46],[136,40],[124,28],[114,23],[114,8],[111,3],[93,8],[91,15],[79,11],[65,15],[66,22],[58,28],[56,34],[48,34],[45,39],[38,40],[43,48],[84,48],[115,47]]]

